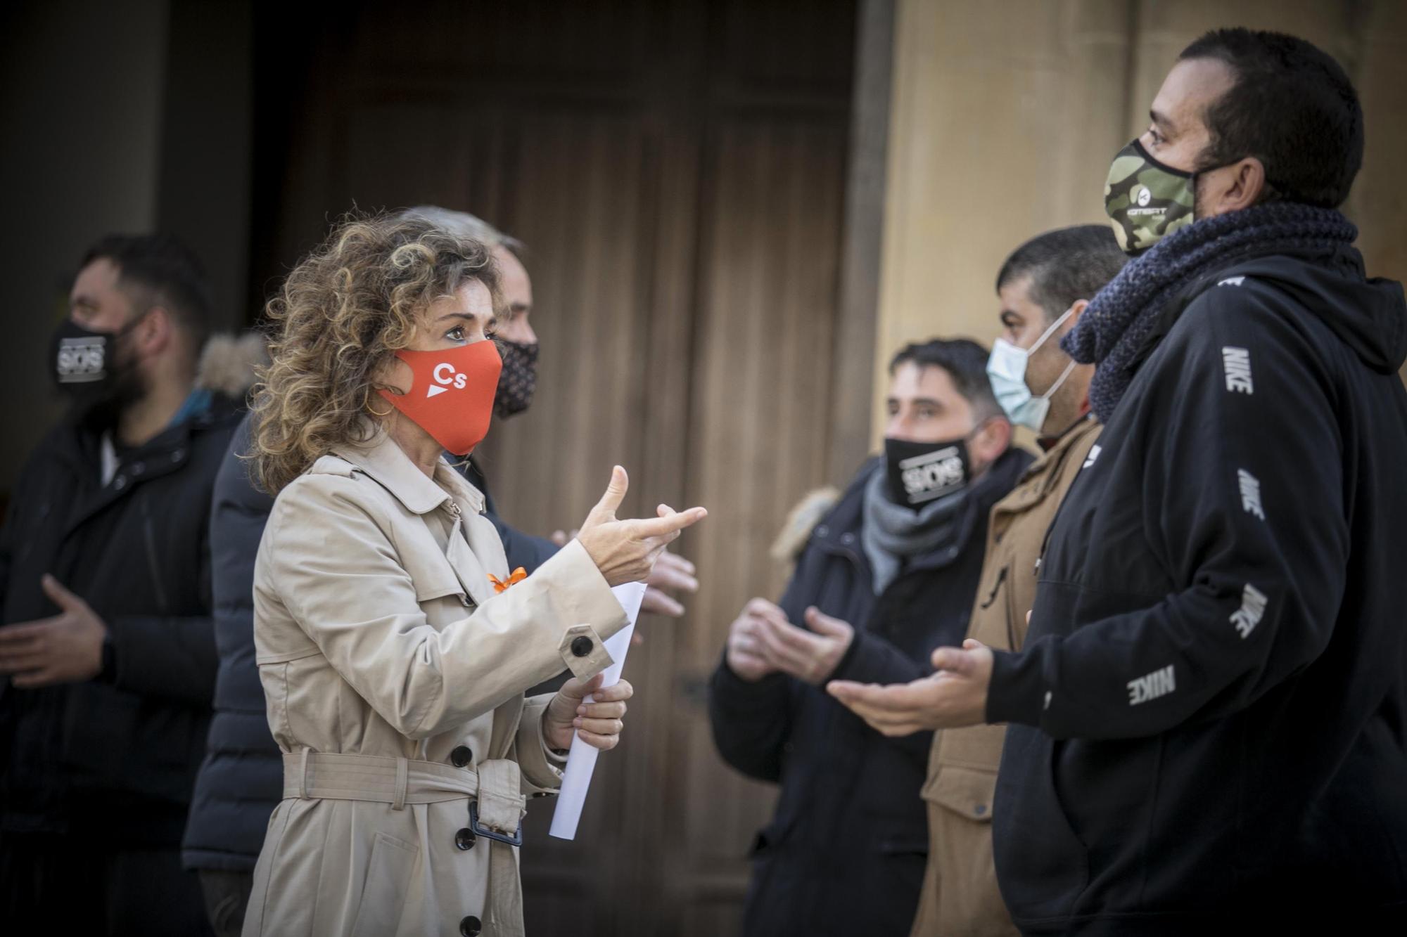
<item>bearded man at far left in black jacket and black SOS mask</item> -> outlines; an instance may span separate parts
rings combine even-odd
[[[72,407],[0,539],[0,919],[200,934],[179,843],[215,678],[207,523],[249,376],[197,380],[229,363],[201,359],[205,274],[169,236],[104,238],[69,302]]]

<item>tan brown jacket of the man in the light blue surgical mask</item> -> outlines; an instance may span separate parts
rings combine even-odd
[[[968,637],[1019,650],[1036,599],[1036,560],[1055,509],[1099,438],[1089,419],[1061,438],[992,508],[986,559]],[[992,865],[992,796],[1006,726],[948,729],[933,736],[929,781],[929,868],[913,937],[1017,934]]]

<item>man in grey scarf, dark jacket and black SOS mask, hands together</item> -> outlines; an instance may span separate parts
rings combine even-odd
[[[729,627],[709,684],[713,741],[781,786],[751,850],[747,937],[909,933],[930,737],[885,739],[823,685],[913,680],[967,635],[988,515],[1031,463],[1010,446],[986,363],[967,339],[893,356],[884,454],[795,530],[781,598],[751,599]]]

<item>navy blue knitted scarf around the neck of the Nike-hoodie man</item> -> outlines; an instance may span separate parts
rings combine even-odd
[[[1327,252],[1356,238],[1358,228],[1338,211],[1297,203],[1254,205],[1172,232],[1124,264],[1061,340],[1076,362],[1096,366],[1090,408],[1109,422],[1159,314],[1193,281],[1248,256]]]

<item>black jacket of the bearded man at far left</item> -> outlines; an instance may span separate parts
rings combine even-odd
[[[207,522],[238,422],[215,395],[125,454],[101,484],[100,435],[66,422],[30,457],[0,540],[0,620],[56,615],[52,573],[108,625],[115,673],[0,682],[0,834],[93,824],[131,844],[180,841],[215,678]]]

